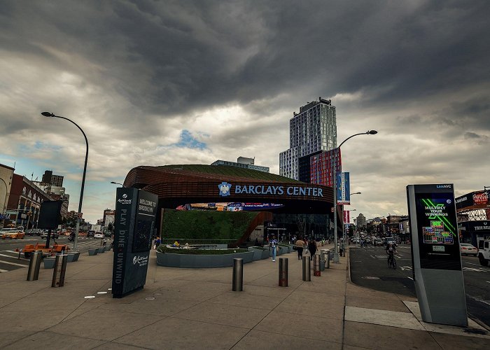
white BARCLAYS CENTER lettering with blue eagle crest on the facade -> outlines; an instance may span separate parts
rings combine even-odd
[[[273,185],[232,185],[222,182],[218,185],[219,195],[228,197],[229,195],[290,195],[323,197],[323,188],[300,187],[300,186],[273,186]]]

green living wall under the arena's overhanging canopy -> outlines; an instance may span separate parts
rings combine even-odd
[[[181,239],[181,244],[228,244],[242,237],[257,215],[250,211],[165,209],[160,237],[163,243]]]

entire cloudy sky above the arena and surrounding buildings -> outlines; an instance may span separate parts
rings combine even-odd
[[[64,176],[84,217],[139,165],[255,157],[337,107],[351,215],[406,214],[405,186],[490,186],[488,1],[27,1],[0,6],[0,163]]]

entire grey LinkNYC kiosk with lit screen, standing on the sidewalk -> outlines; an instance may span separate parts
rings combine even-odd
[[[454,186],[407,186],[414,283],[422,320],[468,325]]]

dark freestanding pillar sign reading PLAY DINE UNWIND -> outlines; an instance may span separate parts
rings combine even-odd
[[[118,188],[114,225],[113,297],[142,289],[146,282],[158,196]]]

